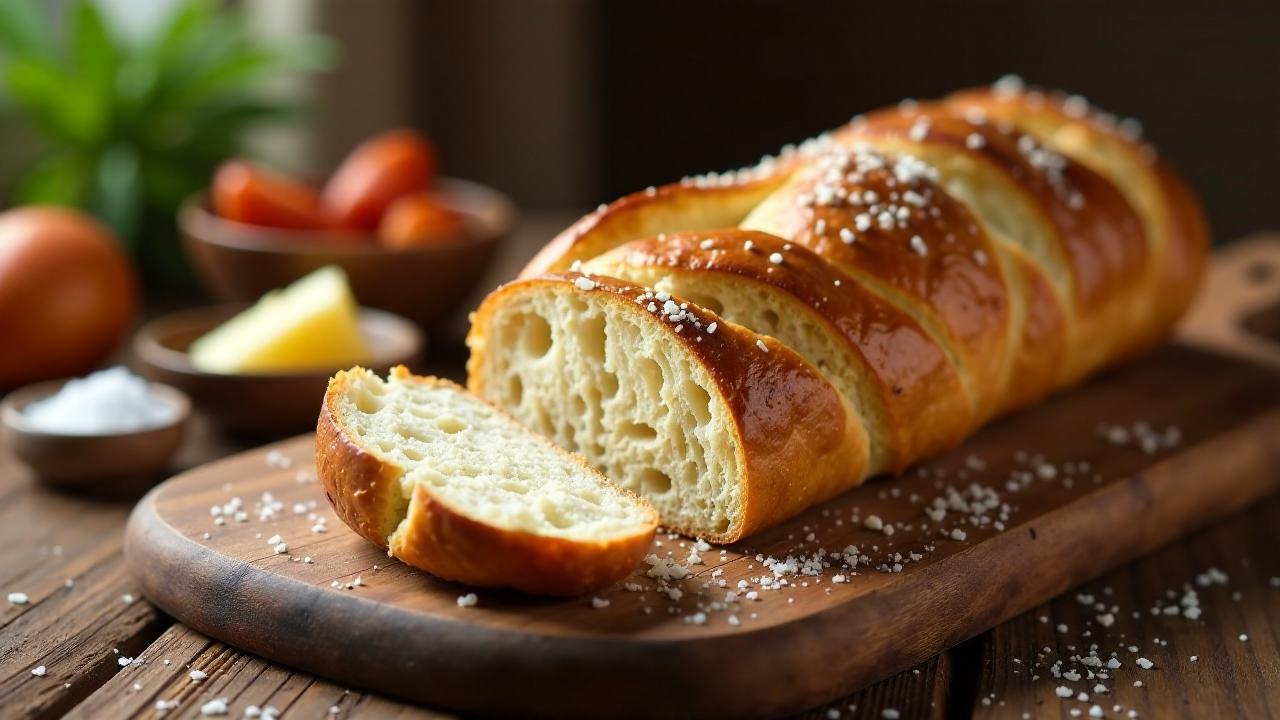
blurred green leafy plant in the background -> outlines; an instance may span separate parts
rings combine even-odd
[[[137,40],[92,0],[72,0],[61,19],[42,0],[0,0],[3,110],[42,143],[10,204],[83,208],[119,234],[148,284],[180,283],[178,206],[242,150],[251,126],[301,117],[297,102],[264,96],[262,82],[325,69],[334,46],[312,35],[255,41],[215,0],[178,3]]]

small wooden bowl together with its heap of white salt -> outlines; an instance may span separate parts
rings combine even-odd
[[[125,368],[15,389],[0,402],[5,441],[50,486],[133,495],[169,468],[191,401]]]

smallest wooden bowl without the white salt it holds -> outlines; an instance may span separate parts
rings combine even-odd
[[[92,495],[137,495],[169,466],[187,433],[191,400],[172,387],[151,383],[151,392],[174,407],[173,421],[142,430],[109,434],[50,433],[36,428],[28,405],[61,389],[68,379],[13,391],[0,404],[9,447],[36,477],[61,489]]]

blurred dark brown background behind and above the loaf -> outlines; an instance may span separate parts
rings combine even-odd
[[[436,138],[448,174],[526,209],[585,208],[1015,72],[1142,119],[1202,193],[1219,242],[1280,227],[1280,3],[293,0],[259,10],[346,46],[312,88],[323,117],[306,158],[317,169],[404,123]]]

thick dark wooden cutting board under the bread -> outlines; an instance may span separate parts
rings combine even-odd
[[[1143,452],[1098,432],[1135,423],[1160,433],[1178,428],[1176,447]],[[1276,437],[1274,372],[1169,346],[998,421],[892,484],[870,483],[723,553],[703,552],[703,564],[677,583],[678,601],[659,597],[637,573],[631,582],[644,589],[611,588],[600,593],[603,609],[589,598],[493,591],[480,592],[476,607],[460,607],[467,588],[389,560],[333,519],[314,482],[310,437],[165,483],[134,510],[125,552],[148,597],[202,633],[438,707],[777,715],[910,667],[1240,510],[1280,487]],[[1009,506],[1002,532],[924,512],[947,487],[964,493],[970,484]],[[215,525],[210,509],[233,497],[247,519]],[[275,502],[278,511],[261,518]],[[868,529],[872,515],[897,532]],[[316,518],[326,532],[314,532]],[[955,529],[964,537],[952,539]],[[285,552],[269,543],[275,534]],[[658,542],[659,555],[684,561],[690,553],[691,541]],[[716,611],[726,593],[719,579],[755,588],[762,574],[772,577],[763,557],[851,543],[870,556],[851,582],[832,584],[849,573],[827,568]],[[906,560],[913,552],[918,561]],[[904,556],[901,571],[876,569],[899,560],[895,553]],[[689,621],[699,612],[705,623]],[[709,667],[716,682],[705,676]],[[502,693],[492,691],[495,676],[506,678]],[[547,692],[585,676],[593,680],[577,692]]]

